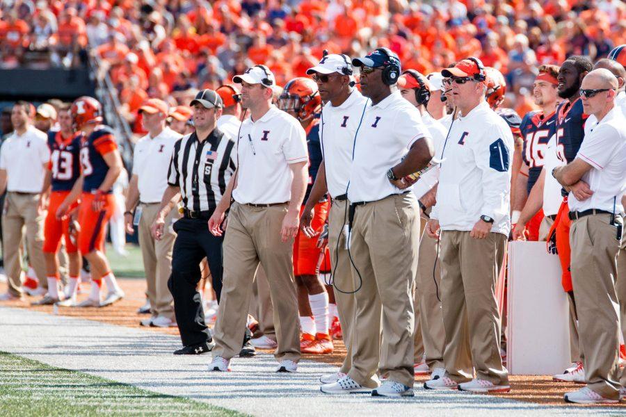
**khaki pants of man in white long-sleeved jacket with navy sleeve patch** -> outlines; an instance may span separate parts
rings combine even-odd
[[[506,236],[484,239],[469,231],[441,233],[441,300],[444,363],[456,382],[474,377],[508,385],[500,357],[500,315],[495,284],[504,260]]]

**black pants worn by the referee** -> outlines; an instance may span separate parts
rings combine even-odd
[[[209,327],[204,322],[202,297],[197,290],[198,282],[202,278],[200,262],[207,258],[211,284],[219,303],[222,293],[224,237],[211,234],[206,219],[181,218],[174,223],[174,231],[177,236],[172,250],[172,275],[168,280],[168,288],[174,298],[174,314],[180,338],[184,346],[209,342],[212,338]],[[251,336],[246,327],[243,343]]]

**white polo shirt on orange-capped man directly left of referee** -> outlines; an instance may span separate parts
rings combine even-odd
[[[168,170],[172,151],[182,135],[166,127],[156,137],[147,134],[135,145],[133,175],[138,178],[139,201],[159,203],[168,187]]]

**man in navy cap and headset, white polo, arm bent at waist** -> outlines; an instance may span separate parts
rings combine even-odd
[[[372,395],[413,395],[419,207],[403,178],[428,165],[433,146],[419,111],[394,86],[401,73],[398,56],[378,48],[352,64],[360,67],[362,94],[371,99],[355,138],[348,186],[350,253],[361,285],[355,293],[352,368],[321,391],[369,388]],[[378,339],[381,324],[379,346],[371,341]],[[381,386],[377,372],[385,377]]]

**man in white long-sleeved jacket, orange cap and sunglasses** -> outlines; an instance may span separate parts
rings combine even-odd
[[[510,387],[499,352],[495,282],[511,229],[513,136],[483,98],[480,60],[461,60],[442,75],[452,79],[459,115],[436,155],[443,159],[438,204],[426,232],[432,237],[441,230],[446,373],[424,388],[505,392]]]

